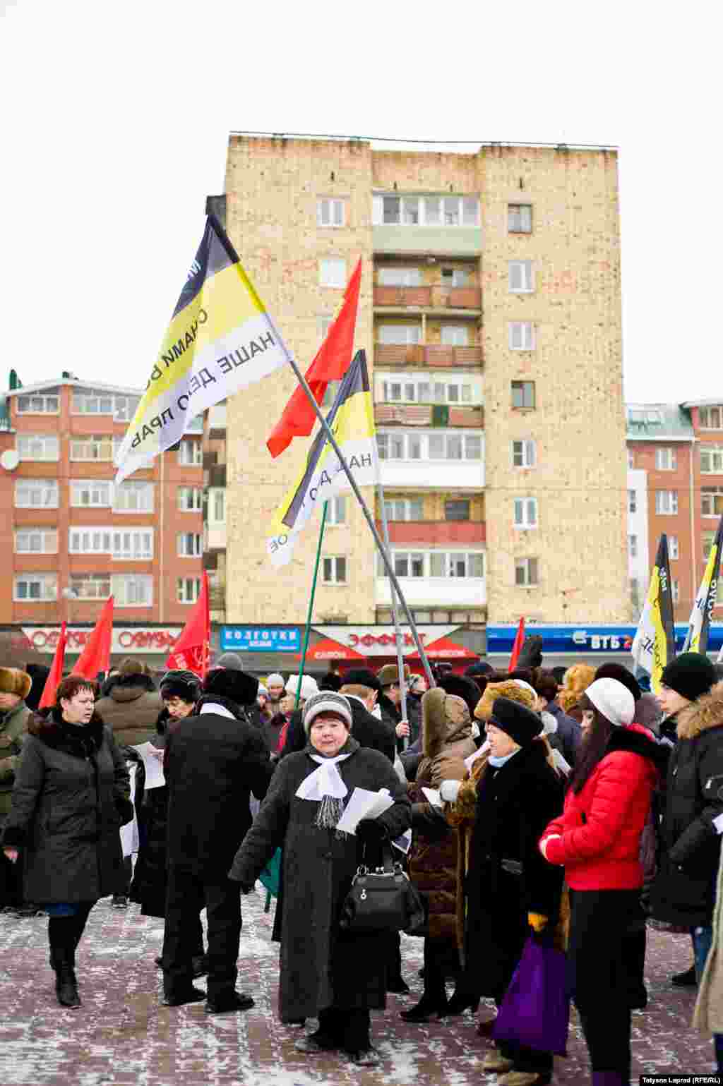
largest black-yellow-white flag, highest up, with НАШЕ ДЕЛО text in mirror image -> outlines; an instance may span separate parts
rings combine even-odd
[[[116,482],[179,441],[187,422],[288,362],[288,351],[209,215],[146,393],[115,457]]]

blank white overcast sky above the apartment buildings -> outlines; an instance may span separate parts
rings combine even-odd
[[[619,146],[627,399],[723,395],[715,10],[0,0],[0,388],[145,386],[241,129]]]

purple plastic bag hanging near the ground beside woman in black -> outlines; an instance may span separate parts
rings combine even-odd
[[[495,1039],[566,1056],[569,1025],[565,955],[531,937],[504,993]]]

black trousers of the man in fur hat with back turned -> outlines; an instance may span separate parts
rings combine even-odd
[[[169,868],[163,936],[163,986],[179,995],[192,985],[191,959],[198,954],[199,913],[205,906],[209,943],[207,994],[222,1001],[236,987],[241,901],[228,879],[205,882],[192,871]]]

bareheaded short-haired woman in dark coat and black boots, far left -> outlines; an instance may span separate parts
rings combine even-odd
[[[63,679],[48,718],[28,721],[2,838],[22,860],[28,898],[50,917],[50,963],[63,1007],[79,1007],[75,950],[96,901],[123,885],[119,830],[133,819],[128,771],[95,712],[98,687]]]

